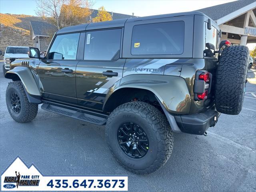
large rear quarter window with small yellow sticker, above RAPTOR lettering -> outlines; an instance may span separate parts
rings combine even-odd
[[[132,30],[132,55],[174,55],[184,49],[184,22],[136,25]]]

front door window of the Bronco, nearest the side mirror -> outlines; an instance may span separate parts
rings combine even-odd
[[[80,33],[57,35],[49,51],[49,59],[75,60]]]

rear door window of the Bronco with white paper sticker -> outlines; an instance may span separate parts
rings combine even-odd
[[[86,32],[84,60],[116,60],[120,56],[122,29]]]

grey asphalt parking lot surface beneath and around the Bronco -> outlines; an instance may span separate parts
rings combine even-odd
[[[242,112],[222,114],[208,136],[174,134],[169,161],[136,175],[120,166],[105,140],[104,126],[42,110],[29,123],[10,117],[8,82],[0,62],[0,172],[20,156],[46,175],[128,175],[129,191],[256,191],[256,68],[250,70]]]

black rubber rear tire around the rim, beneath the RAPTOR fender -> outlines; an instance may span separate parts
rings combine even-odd
[[[135,159],[119,146],[118,128],[124,122],[141,126],[148,136],[149,148],[145,156]],[[163,166],[170,158],[173,148],[173,132],[157,108],[145,102],[128,102],[118,106],[108,117],[106,140],[117,161],[136,174],[148,174]]]

